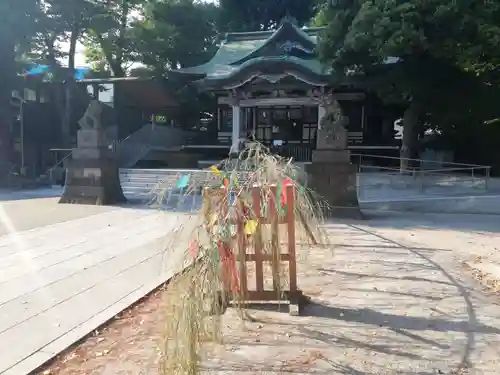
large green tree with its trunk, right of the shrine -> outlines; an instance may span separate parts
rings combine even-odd
[[[477,114],[481,82],[464,64],[500,36],[491,6],[487,0],[328,1],[315,20],[326,25],[319,53],[338,74],[360,77],[384,98],[407,103],[401,156],[409,158],[424,115],[439,121],[450,98],[462,96],[455,114]]]

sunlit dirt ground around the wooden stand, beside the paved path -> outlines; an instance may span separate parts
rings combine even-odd
[[[303,314],[251,310],[243,324],[229,309],[204,373],[498,375],[497,296],[462,267],[465,251],[437,230],[424,238],[419,225],[329,225],[330,248],[299,250],[299,286],[311,298]],[[40,374],[158,374],[165,296],[151,295]]]

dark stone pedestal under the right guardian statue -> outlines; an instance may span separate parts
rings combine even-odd
[[[356,192],[356,167],[346,150],[317,150],[306,166],[308,186],[322,196],[329,207],[327,217],[362,219]]]

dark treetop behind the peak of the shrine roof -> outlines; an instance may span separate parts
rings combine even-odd
[[[219,24],[224,31],[269,30],[285,16],[300,25],[315,14],[316,0],[220,0]]]

